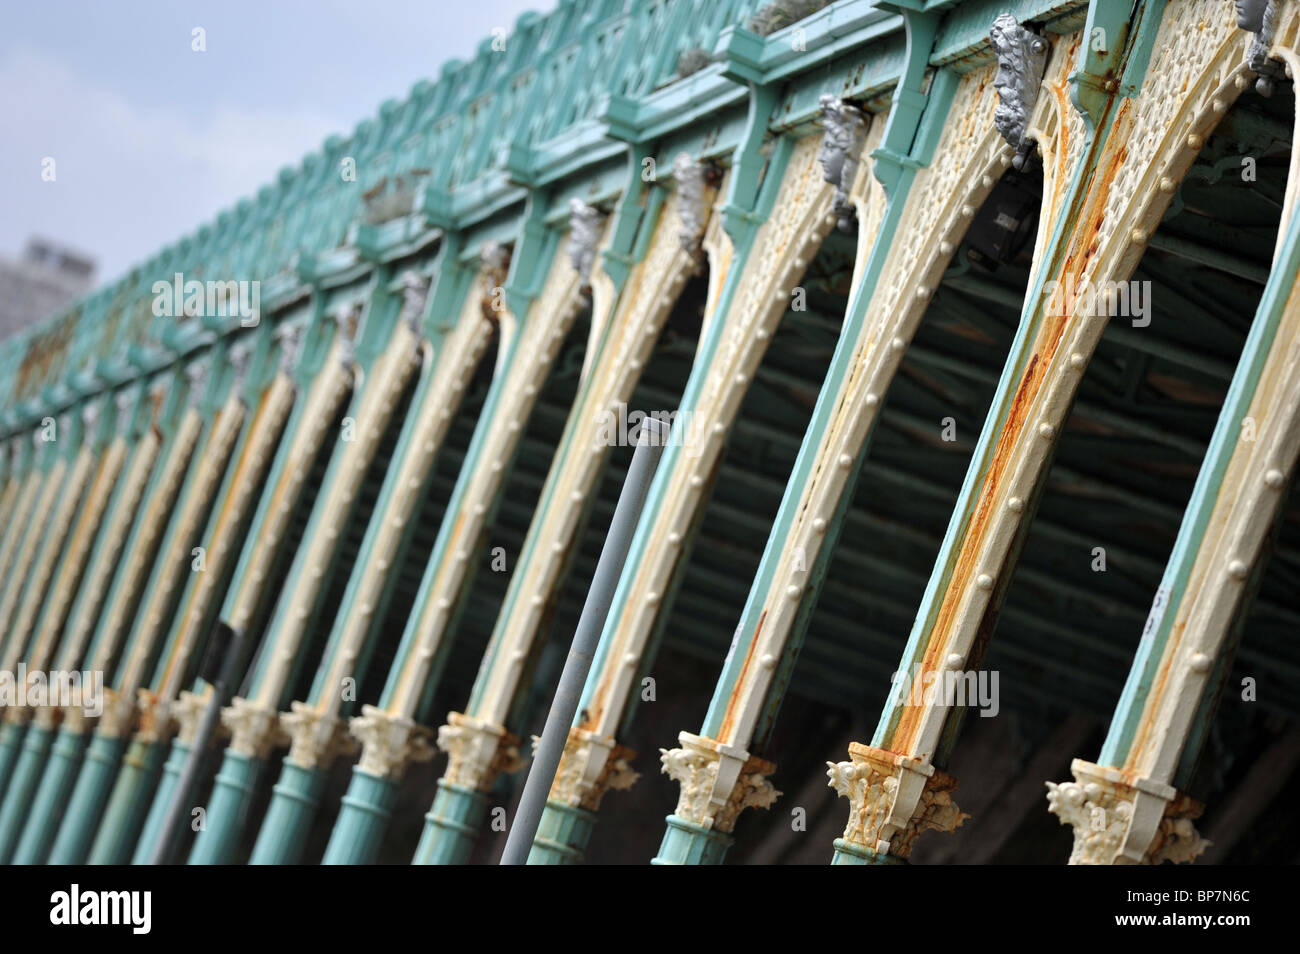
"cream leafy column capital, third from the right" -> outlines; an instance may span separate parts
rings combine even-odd
[[[731,832],[745,808],[767,808],[781,797],[767,780],[776,766],[748,751],[682,732],[680,749],[660,749],[663,772],[681,785],[675,815]]]

